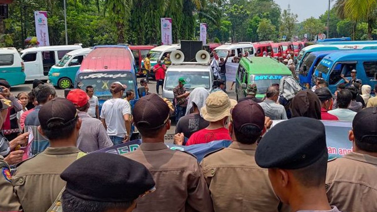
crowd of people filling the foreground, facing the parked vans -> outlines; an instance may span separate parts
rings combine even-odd
[[[356,74],[334,94],[321,78],[301,90],[283,77],[265,98],[249,84],[238,101],[225,80],[211,93],[185,83],[173,89],[174,143],[231,141],[200,163],[164,143],[172,103],[152,94],[148,79],[137,91],[112,82],[101,110],[92,86],[58,98],[36,80],[16,98],[0,80],[0,211],[377,211],[377,97]],[[319,120],[352,122],[352,152],[328,161]],[[90,153],[130,141],[132,126],[142,139],[135,151]]]

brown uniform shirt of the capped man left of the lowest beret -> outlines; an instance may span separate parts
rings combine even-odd
[[[12,184],[24,212],[49,209],[66,184],[60,178],[61,172],[77,159],[78,152],[72,146],[48,147],[17,167]]]

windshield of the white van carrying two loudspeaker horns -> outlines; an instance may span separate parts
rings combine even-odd
[[[194,88],[210,89],[210,72],[209,71],[168,71],[166,73],[165,89],[172,91],[178,85],[178,79],[185,78],[186,90]]]

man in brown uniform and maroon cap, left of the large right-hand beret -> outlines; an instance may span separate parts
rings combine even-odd
[[[254,159],[256,141],[266,131],[264,124],[262,107],[251,99],[241,101],[229,123],[233,143],[203,158],[201,166],[215,211],[277,211],[280,201],[267,169]]]

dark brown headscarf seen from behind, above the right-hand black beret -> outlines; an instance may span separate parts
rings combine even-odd
[[[321,101],[317,94],[308,89],[298,92],[291,102],[291,114],[294,117],[321,119]]]

